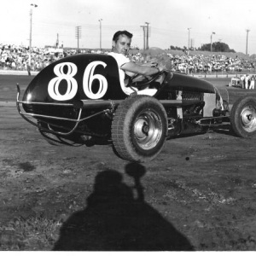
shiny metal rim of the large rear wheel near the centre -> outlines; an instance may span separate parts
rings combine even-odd
[[[134,123],[134,135],[137,145],[144,150],[154,148],[160,141],[162,122],[159,114],[152,110],[141,112]]]

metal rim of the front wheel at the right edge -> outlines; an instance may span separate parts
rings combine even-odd
[[[247,132],[256,131],[256,109],[247,106],[241,111],[241,125]]]

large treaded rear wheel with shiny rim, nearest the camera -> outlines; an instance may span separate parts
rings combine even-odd
[[[143,128],[139,129],[142,124],[146,129],[148,127],[148,135],[143,132]],[[144,95],[129,96],[119,104],[114,113],[113,148],[119,157],[125,160],[133,162],[153,160],[166,143],[167,125],[166,110],[157,99]],[[143,136],[142,143],[137,139],[138,133]],[[148,143],[143,144],[144,139],[145,142],[148,139]]]

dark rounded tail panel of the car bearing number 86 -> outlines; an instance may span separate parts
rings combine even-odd
[[[93,77],[97,75],[98,78]],[[96,90],[90,91],[90,79]],[[102,96],[99,81],[103,79]],[[69,83],[69,88],[67,84]],[[73,55],[45,67],[29,84],[24,102],[72,102],[78,99],[119,99],[125,93],[119,83],[116,61],[110,55]]]

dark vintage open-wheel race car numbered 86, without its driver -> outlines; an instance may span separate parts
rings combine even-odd
[[[167,61],[160,53],[154,59]],[[256,134],[255,97],[241,97],[230,110],[212,84],[168,68],[124,85],[111,55],[68,56],[38,73],[21,101],[19,84],[17,90],[20,115],[49,143],[104,141],[124,160],[153,160],[167,138],[226,122],[238,137]]]

